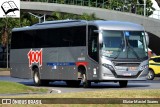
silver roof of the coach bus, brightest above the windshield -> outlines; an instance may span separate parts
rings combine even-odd
[[[21,28],[14,28],[12,31],[25,31],[25,30],[36,30],[36,29],[47,29],[47,28],[61,28],[69,26],[82,26],[82,25],[94,25],[99,30],[128,30],[128,31],[143,31],[144,28],[135,23],[122,22],[122,21],[85,21],[85,20],[58,20],[58,21],[46,21],[43,23],[37,23],[32,26],[26,26]]]

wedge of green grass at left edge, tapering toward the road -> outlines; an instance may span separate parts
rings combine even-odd
[[[23,84],[0,81],[0,94],[16,94],[16,93],[39,93],[47,92],[47,89],[32,88]]]

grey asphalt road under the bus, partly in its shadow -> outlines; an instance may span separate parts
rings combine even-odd
[[[32,79],[18,79],[12,78],[10,76],[0,76],[0,81],[12,81],[18,82],[30,87],[35,87]],[[44,87],[44,86],[42,86]],[[69,92],[83,92],[83,91],[95,91],[95,90],[119,90],[119,89],[160,89],[160,78],[155,80],[147,81],[129,81],[126,88],[120,88],[118,83],[114,82],[102,82],[102,83],[92,83],[91,88],[83,88],[82,85],[77,88],[67,87],[66,83],[63,81],[51,82],[49,86],[45,86],[52,93],[69,93]]]

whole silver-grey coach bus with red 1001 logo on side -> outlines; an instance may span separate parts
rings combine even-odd
[[[128,80],[146,80],[147,44],[144,28],[130,22],[62,20],[14,28],[11,76],[33,78],[37,86],[111,81],[126,87]]]

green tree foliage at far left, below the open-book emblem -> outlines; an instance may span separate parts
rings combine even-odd
[[[7,42],[10,43],[11,31],[16,27],[30,26],[37,23],[37,19],[27,15],[26,13],[21,13],[21,18],[1,18],[0,19],[0,43],[6,47]]]

